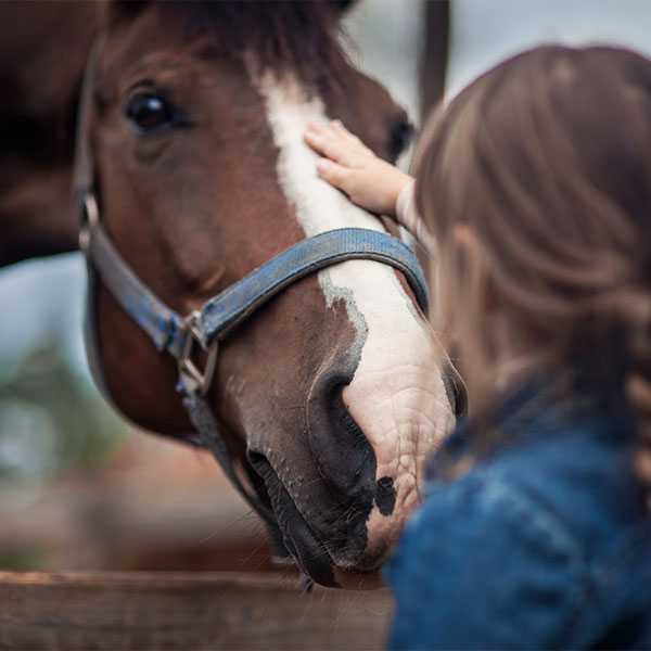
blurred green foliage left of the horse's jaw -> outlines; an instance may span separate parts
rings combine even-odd
[[[129,434],[128,425],[49,340],[0,370],[0,481],[47,481],[94,471]]]

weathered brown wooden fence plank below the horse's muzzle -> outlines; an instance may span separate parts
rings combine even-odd
[[[0,649],[381,649],[392,608],[282,576],[0,572]]]

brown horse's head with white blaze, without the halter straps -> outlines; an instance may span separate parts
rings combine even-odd
[[[336,3],[151,3],[108,12],[90,141],[110,237],[177,312],[306,237],[383,230],[317,178],[308,120],[341,117],[394,158],[407,130],[348,65]],[[100,284],[107,392],[140,425],[191,424],[175,361]],[[403,275],[372,260],[284,289],[220,343],[207,400],[229,454],[315,580],[359,587],[419,500],[452,421],[441,360]]]

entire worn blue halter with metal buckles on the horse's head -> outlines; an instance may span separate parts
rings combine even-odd
[[[101,35],[95,39],[84,74],[74,168],[75,200],[82,216],[79,246],[86,256],[88,269],[85,330],[89,366],[97,384],[108,397],[101,375],[94,327],[94,284],[99,279],[123,309],[150,335],[156,348],[169,353],[177,360],[178,390],[183,394],[183,405],[196,429],[196,435],[184,437],[183,441],[208,447],[244,499],[275,525],[270,510],[252,490],[244,487],[235,473],[216,419],[205,399],[217,365],[219,342],[288,285],[319,269],[350,259],[376,260],[400,270],[419,305],[425,310],[427,289],[422,269],[411,250],[400,240],[373,230],[337,229],[298,242],[207,301],[201,309],[187,316],[178,315],[136,275],[102,225],[89,133],[94,76],[102,40]],[[206,359],[203,368],[194,361],[199,349],[204,352]]]

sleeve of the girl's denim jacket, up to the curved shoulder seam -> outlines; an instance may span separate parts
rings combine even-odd
[[[392,649],[558,648],[586,572],[558,519],[475,468],[427,487],[386,578],[397,604]]]

